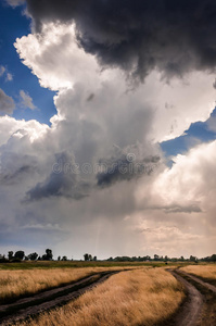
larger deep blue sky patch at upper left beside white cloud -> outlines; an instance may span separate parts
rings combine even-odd
[[[0,88],[12,97],[16,104],[13,117],[37,120],[50,125],[50,117],[56,113],[53,103],[55,92],[39,85],[38,78],[22,63],[13,46],[16,38],[30,33],[30,20],[23,11],[24,7],[11,8],[3,2],[0,3],[0,68],[3,67],[0,70]],[[35,110],[21,104],[21,90],[33,99]]]

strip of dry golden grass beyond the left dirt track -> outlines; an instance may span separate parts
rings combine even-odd
[[[107,269],[116,269],[116,267],[0,271],[0,302],[36,293]]]

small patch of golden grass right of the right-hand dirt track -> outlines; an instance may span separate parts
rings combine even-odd
[[[182,267],[181,269],[193,274],[194,276],[216,280],[216,265],[190,265]]]

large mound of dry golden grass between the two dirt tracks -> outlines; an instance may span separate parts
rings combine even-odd
[[[153,326],[168,318],[185,293],[163,268],[142,268],[111,276],[65,306],[18,326]]]

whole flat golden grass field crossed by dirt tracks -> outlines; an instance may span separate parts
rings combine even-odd
[[[114,271],[120,273],[110,273]],[[187,325],[196,311],[198,325],[215,325],[214,289],[200,285],[190,275],[215,285],[216,264],[81,261],[0,264],[0,324],[7,317],[12,318],[10,325],[18,326],[167,326],[185,321]],[[191,287],[196,288],[193,302]],[[40,309],[40,304],[46,308]],[[25,308],[30,312],[22,315]],[[14,314],[20,322],[13,319]]]

